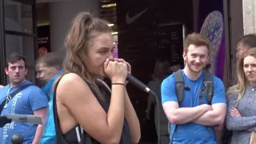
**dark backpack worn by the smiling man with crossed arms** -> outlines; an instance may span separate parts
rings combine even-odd
[[[204,73],[203,86],[199,90],[199,102],[201,104],[203,103],[202,102],[202,91],[204,91],[206,100],[207,100],[208,104],[211,105],[211,101],[212,101],[212,98],[214,95],[214,82],[213,82],[214,75],[210,74],[206,70],[204,70],[203,73]],[[182,102],[182,100],[184,99],[184,90],[190,89],[190,88],[188,86],[186,86],[186,84],[184,82],[182,70],[178,70],[178,71],[174,72],[174,78],[175,78],[176,94],[178,96],[178,103],[180,104]],[[168,125],[168,129],[169,129],[169,134],[170,134],[170,122]],[[174,127],[174,134],[175,134],[176,130],[177,130],[177,125]],[[174,138],[174,134],[173,134],[172,138],[170,138],[171,142],[172,142],[172,139]]]

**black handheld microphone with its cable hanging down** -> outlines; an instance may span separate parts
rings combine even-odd
[[[154,93],[153,90],[150,90],[149,87],[147,87],[144,83],[140,82],[137,78],[134,78],[134,76],[130,75],[130,74],[127,74],[127,78],[126,78],[131,84],[133,84],[134,86],[136,86],[138,89],[140,90],[143,90],[145,91],[146,93],[148,94],[151,94],[151,95],[154,95],[154,98],[156,99],[157,101],[157,114],[158,114],[158,132],[160,131],[160,115],[159,115],[159,110],[160,110],[160,106],[161,106],[161,103],[159,102],[159,98],[158,96]],[[158,134],[158,144],[160,144],[160,136]]]

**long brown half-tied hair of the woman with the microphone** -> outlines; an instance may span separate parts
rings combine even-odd
[[[97,36],[97,33],[111,33],[110,27],[103,19],[95,18],[87,12],[79,13],[73,20],[70,30],[66,35],[66,58],[63,62],[64,73],[56,80],[62,78],[64,74],[78,74],[95,90],[98,95],[98,86],[91,74],[86,70],[86,56],[89,50],[90,39]]]

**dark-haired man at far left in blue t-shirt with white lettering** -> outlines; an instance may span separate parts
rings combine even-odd
[[[31,84],[25,79],[28,72],[26,59],[18,54],[10,54],[5,68],[10,79],[10,84],[0,89],[0,103],[4,102],[10,94],[18,90],[21,86]],[[15,94],[13,98],[8,98],[1,116],[5,114],[34,114],[41,115],[42,121],[47,113],[46,94],[38,86],[29,86]],[[43,126],[29,122],[10,122],[0,129],[0,143],[11,143],[14,134],[21,134],[24,144],[36,144],[42,135]]]

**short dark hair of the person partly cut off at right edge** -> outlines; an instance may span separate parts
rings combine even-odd
[[[238,44],[242,44],[247,48],[256,47],[256,34],[246,34],[239,38]]]

